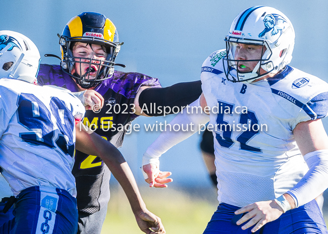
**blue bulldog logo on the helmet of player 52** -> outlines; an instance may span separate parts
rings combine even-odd
[[[285,24],[287,21],[277,14],[268,14],[264,17],[264,26],[265,29],[258,35],[263,37],[265,33],[271,31],[271,36],[278,34],[281,30],[285,29]]]

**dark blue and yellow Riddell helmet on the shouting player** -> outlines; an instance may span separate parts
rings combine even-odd
[[[85,62],[85,58],[74,57],[72,48],[75,42],[103,46],[107,52],[106,60],[87,59]],[[73,77],[82,88],[91,88],[112,77],[115,59],[123,44],[119,42],[119,34],[113,22],[103,14],[95,12],[83,12],[73,17],[65,26],[59,43],[62,50],[62,70]],[[90,67],[92,64],[101,64],[96,79],[89,79],[90,71],[83,75],[81,71],[81,76],[76,73],[72,74],[75,63],[90,64]]]

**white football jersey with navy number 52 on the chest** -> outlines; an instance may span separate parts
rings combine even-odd
[[[212,109],[218,201],[242,207],[279,197],[307,172],[293,129],[326,116],[328,84],[289,66],[274,78],[233,83],[224,55],[203,63],[202,90]]]

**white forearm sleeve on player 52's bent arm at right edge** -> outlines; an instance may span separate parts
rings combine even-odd
[[[293,197],[296,208],[312,201],[328,188],[328,149],[307,153],[304,159],[308,172],[287,192]]]

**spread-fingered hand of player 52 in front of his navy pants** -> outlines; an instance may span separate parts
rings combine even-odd
[[[240,225],[249,220],[249,222],[247,222],[241,228],[245,230],[248,227],[255,225],[251,230],[252,232],[260,229],[265,223],[276,220],[280,217],[280,215],[284,213],[282,208],[274,200],[255,202],[235,211],[235,214],[241,214],[245,212],[248,213],[237,221],[237,225]]]

